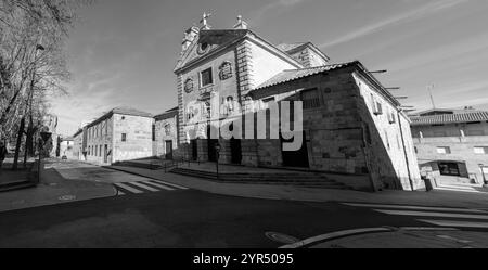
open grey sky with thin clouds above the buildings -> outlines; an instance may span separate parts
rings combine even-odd
[[[117,106],[177,106],[172,70],[183,31],[204,12],[214,28],[237,15],[271,43],[311,41],[333,63],[361,61],[407,106],[488,110],[486,0],[98,0],[66,43],[73,79],[51,97],[59,133]]]

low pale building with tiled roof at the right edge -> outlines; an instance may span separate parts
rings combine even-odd
[[[438,184],[488,178],[488,112],[431,110],[411,117],[419,164]]]

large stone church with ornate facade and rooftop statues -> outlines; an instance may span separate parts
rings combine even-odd
[[[206,15],[201,23],[184,33],[175,68],[176,155],[200,162],[362,176],[347,182],[358,190],[422,188],[410,120],[401,104],[360,62],[331,63],[311,42],[272,44],[248,29],[241,16],[228,29],[214,29]],[[270,133],[270,111],[284,101],[303,105],[299,150],[283,150],[288,140],[283,132],[279,138],[244,136]],[[265,126],[254,123],[255,130],[248,131],[247,125],[232,121],[226,130],[232,131],[233,138],[213,136],[219,134],[214,127],[221,127],[230,115],[255,120],[262,112]],[[295,120],[291,125],[295,126]],[[277,125],[284,123],[278,120]]]

